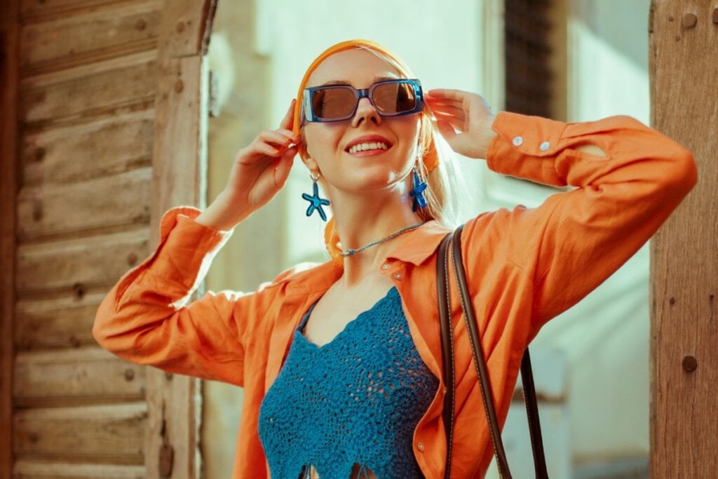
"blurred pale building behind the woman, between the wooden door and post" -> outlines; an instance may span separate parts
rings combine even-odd
[[[627,114],[648,123],[648,11],[649,0],[220,1],[210,42],[209,200],[224,187],[238,149],[279,124],[309,62],[344,39],[381,42],[424,88],[475,91],[494,111],[562,121]],[[481,161],[462,159],[461,166],[464,219],[538,205],[557,191],[495,175]],[[255,289],[293,264],[326,259],[322,225],[304,216],[299,199],[309,185],[297,161],[284,190],[236,228],[210,270],[209,289]],[[552,478],[648,477],[648,345],[643,248],[532,345]],[[203,387],[206,477],[227,478],[242,391]],[[526,429],[517,402],[504,441],[519,478],[533,475]]]

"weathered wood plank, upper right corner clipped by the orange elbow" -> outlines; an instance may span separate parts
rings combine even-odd
[[[18,353],[14,401],[20,407],[63,401],[141,401],[145,371],[97,347]]]

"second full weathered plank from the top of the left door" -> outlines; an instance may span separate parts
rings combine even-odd
[[[153,99],[156,84],[154,60],[103,70],[70,81],[23,88],[19,114],[24,123],[33,124],[123,111]]]

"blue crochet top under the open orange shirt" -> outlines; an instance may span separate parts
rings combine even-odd
[[[439,380],[409,333],[396,287],[317,346],[294,331],[279,376],[259,410],[259,437],[272,478],[421,478],[414,428]]]

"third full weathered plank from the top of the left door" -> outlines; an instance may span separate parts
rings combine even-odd
[[[149,166],[154,110],[65,126],[22,137],[23,185],[65,183]]]

